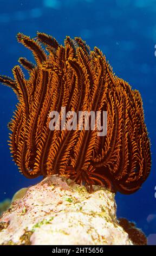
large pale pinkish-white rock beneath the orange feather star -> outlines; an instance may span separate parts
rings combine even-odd
[[[0,219],[1,245],[132,245],[116,219],[114,194],[48,176]]]

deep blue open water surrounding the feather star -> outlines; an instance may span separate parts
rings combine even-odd
[[[66,35],[81,36],[93,49],[106,55],[117,76],[138,89],[144,103],[145,122],[151,139],[151,174],[138,192],[116,194],[118,217],[137,223],[156,245],[156,0],[0,0],[0,74],[12,77],[19,57],[33,61],[31,52],[19,45],[16,34],[34,37],[36,32],[53,35],[63,44]],[[28,77],[26,71],[25,76]],[[7,144],[7,124],[17,98],[0,87],[0,202],[12,198],[22,187],[40,179],[27,179],[18,172]],[[152,235],[151,235],[152,234]]]

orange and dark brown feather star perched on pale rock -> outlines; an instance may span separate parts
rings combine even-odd
[[[102,52],[96,47],[90,51],[81,38],[67,36],[64,46],[44,33],[35,39],[19,33],[17,39],[36,61],[19,59],[29,71],[28,80],[20,66],[12,70],[14,80],[0,76],[19,100],[9,128],[20,172],[27,178],[60,174],[91,188],[99,184],[121,193],[137,191],[151,168],[139,92],[116,77]],[[62,107],[66,113],[107,112],[107,135],[98,136],[97,126],[93,130],[90,123],[88,130],[85,125],[49,129],[49,114],[61,114]]]

